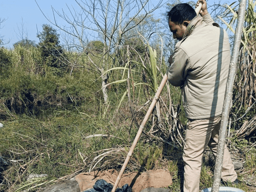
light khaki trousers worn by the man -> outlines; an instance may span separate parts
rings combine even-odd
[[[188,120],[183,152],[184,192],[199,191],[203,153],[208,145],[216,157],[220,124],[221,115],[208,119]],[[237,173],[226,145],[221,178],[223,181],[230,182],[237,179]]]

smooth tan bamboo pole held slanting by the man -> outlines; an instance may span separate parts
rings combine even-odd
[[[195,10],[196,13],[197,13],[197,15],[199,14],[201,8],[202,8],[202,4],[200,3],[199,6],[198,6],[198,7],[196,8],[196,10]],[[116,190],[116,188],[117,188],[117,185],[118,185],[118,183],[119,183],[119,181],[120,181],[120,179],[121,179],[121,177],[122,177],[122,175],[123,175],[124,169],[126,168],[128,162],[129,162],[129,160],[130,160],[130,158],[131,158],[131,156],[132,156],[132,154],[133,154],[134,148],[135,148],[136,144],[137,144],[138,141],[139,141],[140,135],[141,135],[141,133],[142,133],[142,131],[143,131],[143,129],[144,129],[144,126],[145,126],[145,124],[146,124],[148,118],[150,117],[150,115],[151,115],[153,109],[155,108],[155,105],[156,105],[156,103],[157,103],[157,100],[158,100],[158,98],[159,98],[159,96],[160,96],[160,94],[161,94],[161,92],[162,92],[162,90],[163,90],[163,88],[164,88],[164,85],[165,85],[167,79],[168,79],[167,74],[165,74],[164,77],[163,77],[163,79],[162,79],[162,81],[161,81],[161,83],[160,83],[160,86],[159,86],[159,88],[158,88],[158,90],[157,90],[157,92],[156,92],[156,94],[155,94],[155,97],[154,97],[154,99],[153,99],[153,101],[152,101],[152,103],[151,103],[151,105],[150,105],[150,108],[147,110],[147,113],[146,113],[146,115],[145,115],[145,117],[144,117],[144,119],[143,119],[143,121],[142,121],[142,123],[141,123],[141,125],[140,125],[140,127],[139,127],[139,130],[138,130],[138,132],[137,132],[137,135],[136,135],[136,137],[135,137],[135,139],[134,139],[134,141],[133,141],[133,144],[132,144],[132,146],[131,146],[131,148],[130,148],[129,153],[128,153],[127,156],[126,156],[126,159],[125,159],[125,161],[124,161],[124,163],[123,163],[123,166],[122,166],[122,168],[121,168],[121,170],[120,170],[120,172],[119,172],[119,175],[118,175],[117,178],[116,178],[115,185],[114,185],[114,187],[113,187],[113,189],[112,189],[111,192],[115,192],[115,190]]]

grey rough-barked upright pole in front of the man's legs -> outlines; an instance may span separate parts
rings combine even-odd
[[[227,123],[229,118],[229,111],[231,106],[232,90],[234,77],[236,76],[236,63],[239,55],[239,48],[241,44],[242,29],[245,17],[246,0],[241,0],[239,4],[238,23],[236,27],[236,33],[234,35],[234,42],[232,48],[232,56],[229,64],[229,72],[226,83],[225,99],[222,109],[222,120],[220,127],[220,136],[217,148],[217,157],[214,170],[214,184],[212,185],[211,192],[219,192],[221,181],[221,170],[223,165],[224,146],[226,139]]]

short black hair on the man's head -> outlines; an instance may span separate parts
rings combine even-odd
[[[184,20],[190,21],[197,16],[196,11],[190,5],[183,3],[174,6],[168,13],[168,19],[175,24],[181,25]]]

